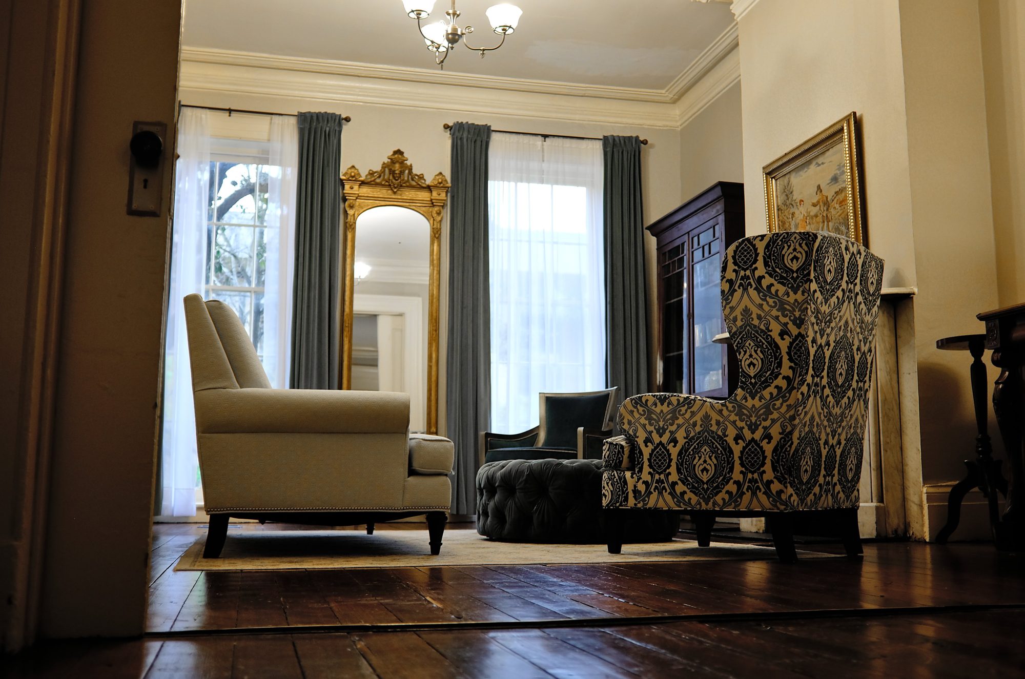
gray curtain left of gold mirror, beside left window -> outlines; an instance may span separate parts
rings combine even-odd
[[[336,113],[298,115],[293,389],[338,388],[341,122]]]

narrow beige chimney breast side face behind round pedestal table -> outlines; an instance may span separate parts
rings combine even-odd
[[[978,5],[901,0],[900,19],[928,484],[960,478],[975,438],[969,359],[936,341],[983,331],[975,315],[997,306],[995,251]]]

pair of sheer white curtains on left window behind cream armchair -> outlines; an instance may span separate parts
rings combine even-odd
[[[195,516],[197,500],[198,458],[196,453],[196,420],[193,409],[192,373],[189,369],[189,343],[186,334],[182,297],[198,292],[206,298],[223,294],[210,278],[210,258],[207,250],[210,239],[217,230],[238,229],[216,226],[211,215],[223,195],[233,187],[214,187],[211,163],[214,154],[211,146],[231,148],[231,139],[211,139],[208,113],[200,109],[184,108],[178,119],[178,164],[175,175],[174,228],[171,245],[170,292],[167,308],[167,344],[164,359],[164,413],[163,442],[161,446],[161,507],[160,516]],[[234,144],[238,144],[235,142]],[[249,146],[246,143],[246,146]],[[288,367],[291,357],[292,275],[295,262],[295,179],[298,165],[298,130],[295,118],[274,116],[271,120],[270,145],[258,143],[259,151],[244,154],[232,153],[233,165],[241,164],[256,181],[254,191],[261,192],[266,181],[266,210],[264,228],[265,267],[263,269],[262,295],[254,295],[252,304],[262,304],[261,347],[263,367],[271,384],[278,388],[288,386]],[[266,156],[262,149],[266,148]],[[221,150],[222,151],[222,150]],[[256,155],[251,155],[256,153]],[[218,152],[220,157],[223,154]],[[266,165],[263,163],[266,162]],[[223,158],[221,158],[223,164]],[[224,178],[231,183],[231,176]],[[259,202],[255,195],[253,205]],[[256,210],[258,217],[259,211]],[[236,217],[229,217],[236,218]],[[252,218],[250,212],[249,218]],[[251,231],[251,229],[248,229]],[[219,246],[231,244],[221,234]],[[253,242],[252,236],[249,243]],[[246,247],[249,247],[248,245]],[[258,258],[258,248],[257,248]],[[250,262],[246,259],[246,262]],[[249,266],[252,266],[250,263]],[[250,272],[251,273],[251,272]],[[258,276],[251,276],[258,278]],[[231,293],[229,293],[231,294]],[[261,302],[260,302],[261,299]],[[229,299],[231,304],[231,299]],[[248,304],[248,303],[247,303]],[[248,310],[244,306],[244,310]],[[248,318],[248,312],[237,312]],[[258,324],[257,324],[258,325]],[[260,328],[254,327],[253,332]]]

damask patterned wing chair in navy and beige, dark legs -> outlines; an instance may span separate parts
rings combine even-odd
[[[643,394],[619,409],[604,446],[602,501],[691,514],[708,545],[716,516],[769,519],[776,552],[796,559],[793,517],[830,513],[861,554],[858,482],[883,261],[843,236],[745,238],[723,262],[723,313],[740,366],[724,401]],[[618,554],[622,533],[609,552]]]

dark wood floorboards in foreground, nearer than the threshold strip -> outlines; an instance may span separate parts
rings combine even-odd
[[[1025,611],[546,629],[49,642],[11,679],[1021,676]]]

